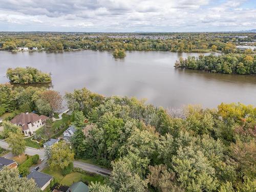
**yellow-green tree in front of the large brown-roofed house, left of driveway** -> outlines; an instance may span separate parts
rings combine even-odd
[[[20,155],[25,152],[26,146],[22,133],[10,133],[6,141],[9,143],[9,147],[12,148],[14,155]]]

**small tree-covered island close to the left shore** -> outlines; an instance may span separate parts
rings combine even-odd
[[[41,71],[32,68],[9,68],[6,72],[6,76],[13,83],[46,83],[51,82],[52,78],[50,74],[42,73]]]

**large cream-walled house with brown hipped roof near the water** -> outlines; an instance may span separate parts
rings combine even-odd
[[[35,113],[22,113],[11,120],[11,123],[22,127],[25,136],[32,135],[36,130],[42,127],[49,117],[37,115]]]

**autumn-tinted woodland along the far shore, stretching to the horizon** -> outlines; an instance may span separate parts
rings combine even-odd
[[[0,49],[61,51],[159,50],[179,52],[239,52],[236,44],[253,41],[255,33],[1,33]],[[239,38],[240,35],[248,36]]]

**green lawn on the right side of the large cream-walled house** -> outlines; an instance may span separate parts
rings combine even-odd
[[[44,133],[44,129],[45,129],[44,127],[41,127],[39,130],[37,130],[36,134],[46,139],[57,138],[67,129],[68,126],[65,126],[62,129],[60,129],[58,133],[54,133],[54,130],[60,125],[70,124],[70,118],[71,118],[70,115],[63,114],[62,119],[54,121],[52,127],[49,128],[50,129],[49,137]]]

